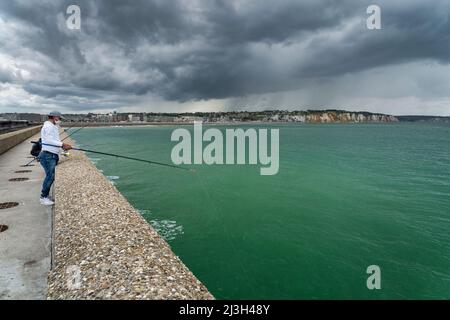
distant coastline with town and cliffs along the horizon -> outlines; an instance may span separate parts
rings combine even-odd
[[[0,128],[11,127],[11,123],[21,126],[41,124],[45,114],[2,113]],[[191,113],[152,113],[152,112],[109,112],[88,114],[64,114],[67,126],[149,126],[149,125],[191,125],[196,121],[203,124],[283,124],[283,123],[390,123],[390,122],[443,122],[450,123],[450,117],[403,115],[394,116],[367,111],[346,111],[337,109],[287,111],[230,111],[230,112],[191,112]]]

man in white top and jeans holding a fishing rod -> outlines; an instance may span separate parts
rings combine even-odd
[[[55,181],[55,167],[59,161],[61,148],[64,150],[72,149],[72,146],[63,143],[59,137],[58,125],[61,123],[61,113],[52,111],[48,114],[48,121],[45,121],[41,129],[42,151],[39,154],[39,160],[45,171],[45,179],[42,184],[40,202],[43,205],[51,206],[55,204],[54,200],[49,198],[50,188]]]

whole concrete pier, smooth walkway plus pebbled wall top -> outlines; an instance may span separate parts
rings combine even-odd
[[[84,153],[62,157],[41,205],[44,170],[23,167],[37,139],[0,155],[0,300],[214,298]]]

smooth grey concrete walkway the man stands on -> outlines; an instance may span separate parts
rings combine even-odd
[[[52,207],[39,203],[44,179],[39,163],[21,167],[32,160],[29,141],[33,138],[0,155],[0,203],[19,204],[0,209],[0,225],[8,226],[0,232],[0,299],[46,299],[47,296]],[[16,173],[21,170],[30,172]],[[13,178],[28,180],[9,181]]]

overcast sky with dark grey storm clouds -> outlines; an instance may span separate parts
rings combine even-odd
[[[450,0],[5,0],[0,112],[450,116],[449,16]]]

